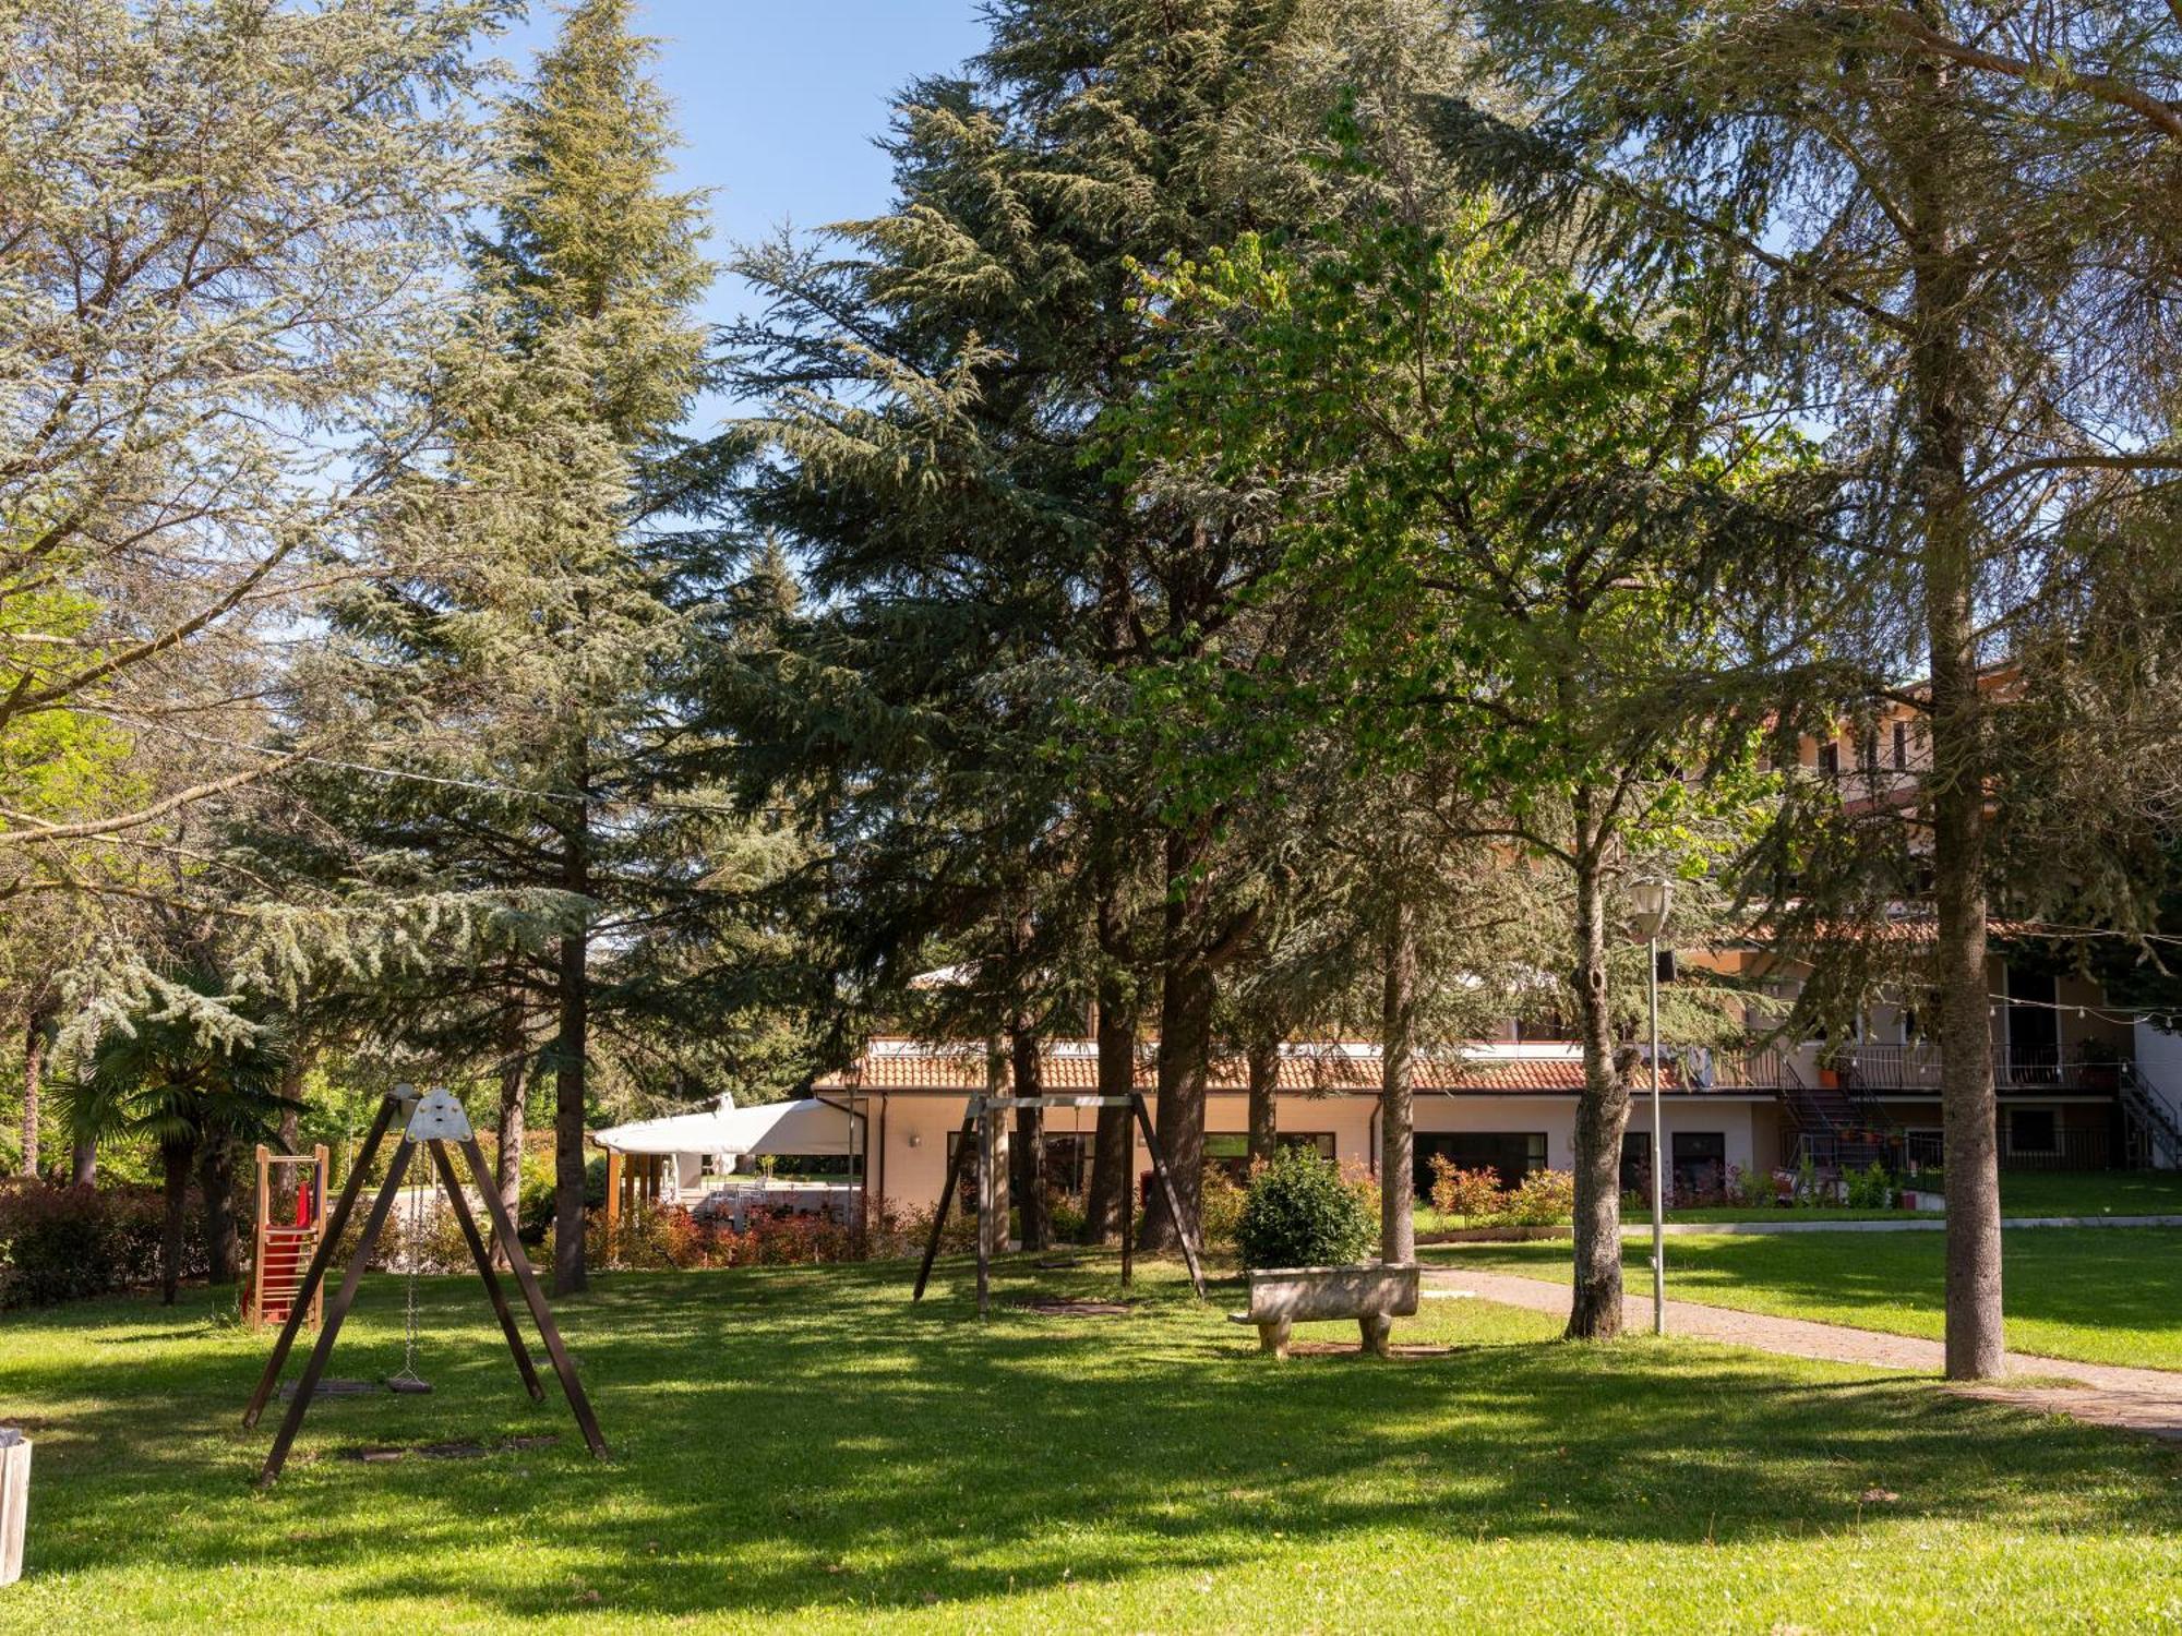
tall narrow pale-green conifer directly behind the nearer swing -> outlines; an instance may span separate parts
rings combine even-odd
[[[655,951],[692,934],[722,840],[720,801],[666,790],[692,624],[655,521],[705,377],[703,207],[663,185],[670,118],[628,13],[572,7],[508,109],[500,231],[476,246],[436,356],[441,436],[380,506],[382,572],[329,600],[340,643],[310,683],[319,720],[367,735],[397,777],[301,785],[340,838],[319,868],[343,888],[491,905],[458,986],[441,960],[375,1001],[436,988],[443,1049],[500,1075],[508,1167],[524,1062],[550,1067],[561,1291],[585,1283],[602,988],[609,1014],[655,1021],[692,997]]]

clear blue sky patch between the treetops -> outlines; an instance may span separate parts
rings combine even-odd
[[[890,196],[892,96],[916,74],[954,70],[984,39],[978,0],[639,0],[659,37],[659,83],[685,146],[681,185],[711,190],[714,255],[781,222],[873,216]],[[500,55],[528,72],[559,11],[535,2]],[[742,310],[722,277],[709,316]]]

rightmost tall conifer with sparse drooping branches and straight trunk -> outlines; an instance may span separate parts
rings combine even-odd
[[[2003,1363],[1986,667],[2171,443],[2175,24],[2156,4],[1475,7],[1512,118],[1453,146],[1580,253],[1724,257],[1863,476],[1870,696],[1922,711],[1949,1374]],[[1551,109],[1543,120],[1534,111]],[[1929,687],[1903,689],[1922,670]]]

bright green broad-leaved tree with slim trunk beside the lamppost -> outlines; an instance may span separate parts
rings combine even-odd
[[[1636,323],[1523,266],[1484,209],[1447,231],[1379,212],[1309,257],[1244,238],[1146,303],[1191,342],[1117,417],[1139,480],[1263,493],[1261,596],[1307,633],[1156,678],[1176,783],[1248,792],[1333,722],[1375,768],[1442,757],[1458,833],[1564,870],[1569,1333],[1615,1335],[1615,892],[1704,875],[1763,818],[1757,737],[1829,589],[1807,452],[1709,373],[1702,308]],[[1388,969],[1414,969],[1392,925]]]

